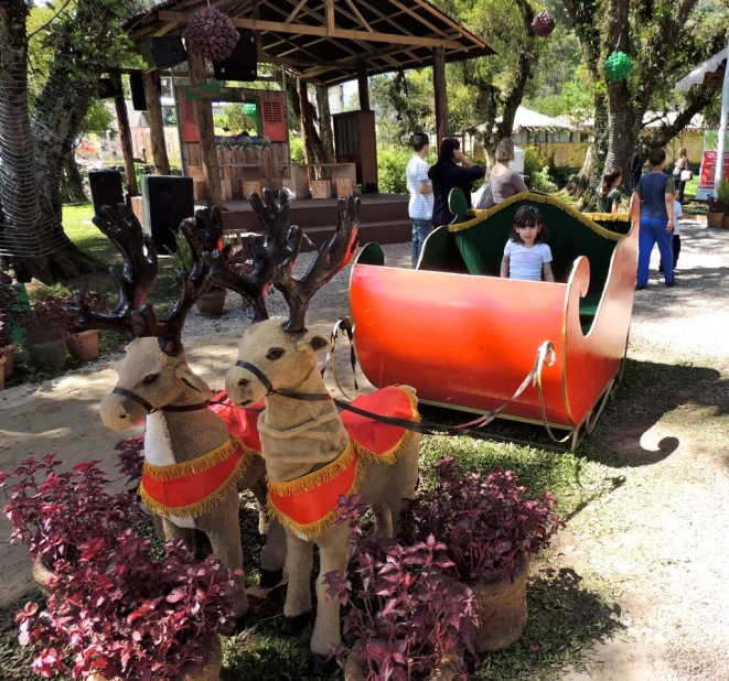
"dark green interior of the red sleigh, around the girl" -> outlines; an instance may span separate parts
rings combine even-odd
[[[459,199],[458,195],[451,196],[451,209],[458,208]],[[452,228],[460,223],[473,221],[473,217],[464,216],[464,210],[453,210],[464,219],[457,217],[451,230],[446,225],[430,235],[418,269],[498,277],[514,216],[522,206],[529,205],[536,206],[544,217],[556,281],[567,283],[575,260],[580,256],[586,256],[590,262],[589,292],[580,301],[580,322],[587,333],[602,298],[613,250],[622,238],[623,230],[626,231],[625,220],[608,220],[603,223],[604,226],[600,226],[589,216],[577,213],[553,197],[519,194],[487,210],[481,220],[462,230],[454,231]]]

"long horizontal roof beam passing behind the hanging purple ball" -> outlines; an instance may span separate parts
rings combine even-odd
[[[170,12],[160,10],[160,20],[187,22],[192,18],[186,12]],[[396,33],[368,33],[367,31],[350,31],[346,29],[334,29],[329,33],[328,26],[310,26],[301,23],[283,23],[280,21],[254,21],[253,19],[234,18],[233,23],[240,29],[253,31],[271,31],[272,33],[293,33],[296,35],[324,35],[340,37],[342,40],[358,40],[365,43],[393,43],[396,45],[418,45],[420,47],[449,47],[451,50],[463,50],[464,45],[454,40],[440,37],[420,37],[417,35],[399,35]]]

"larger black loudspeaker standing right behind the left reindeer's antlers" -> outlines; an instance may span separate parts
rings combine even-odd
[[[144,234],[152,237],[159,253],[176,250],[174,235],[180,223],[195,214],[192,190],[192,177],[142,175]]]

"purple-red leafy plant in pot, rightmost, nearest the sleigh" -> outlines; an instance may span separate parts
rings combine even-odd
[[[433,536],[448,548],[451,575],[464,582],[513,579],[565,525],[550,510],[549,493],[533,500],[526,491],[513,471],[497,469],[483,479],[461,474],[452,457],[441,458],[433,487],[406,501],[401,538],[412,543]]]

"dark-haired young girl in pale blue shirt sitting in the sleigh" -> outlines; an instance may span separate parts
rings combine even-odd
[[[514,216],[512,238],[506,241],[501,261],[501,275],[526,281],[555,281],[551,273],[551,250],[545,244],[547,231],[539,212],[524,206]]]

